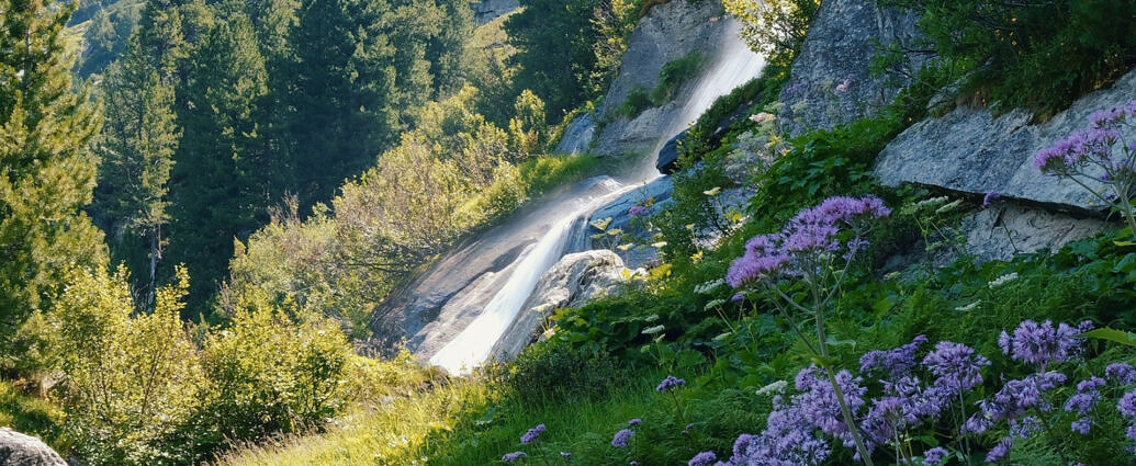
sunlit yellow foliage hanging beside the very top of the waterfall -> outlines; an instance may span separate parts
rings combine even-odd
[[[792,60],[809,32],[819,0],[724,0],[726,11],[742,22],[742,39],[754,52],[784,53]]]

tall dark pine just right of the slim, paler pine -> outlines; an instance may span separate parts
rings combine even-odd
[[[265,222],[266,206],[282,193],[273,192],[278,160],[265,146],[256,119],[267,73],[248,17],[234,12],[218,22],[187,61],[169,256],[195,278],[191,304],[200,304],[224,277],[234,237]]]

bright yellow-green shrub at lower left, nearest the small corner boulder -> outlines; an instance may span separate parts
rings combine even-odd
[[[185,427],[204,396],[197,346],[178,312],[189,288],[158,290],[152,313],[133,315],[127,272],[72,270],[55,308],[41,315],[43,357],[66,374],[64,430],[94,465],[185,464]]]

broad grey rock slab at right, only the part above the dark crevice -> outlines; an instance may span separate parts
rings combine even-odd
[[[1046,122],[1014,110],[994,116],[987,109],[958,108],[913,125],[879,154],[876,175],[885,185],[913,183],[951,190],[999,193],[1056,210],[1101,212],[1106,205],[1076,183],[1045,176],[1034,154],[1087,126],[1088,116],[1136,96],[1136,71],[1111,88],[1077,100]],[[1099,185],[1091,185],[1099,188]]]

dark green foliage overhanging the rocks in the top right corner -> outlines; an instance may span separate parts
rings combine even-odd
[[[970,74],[967,90],[988,88],[1000,109],[1052,115],[1136,63],[1136,5],[1126,0],[880,3],[920,14],[929,46]]]

